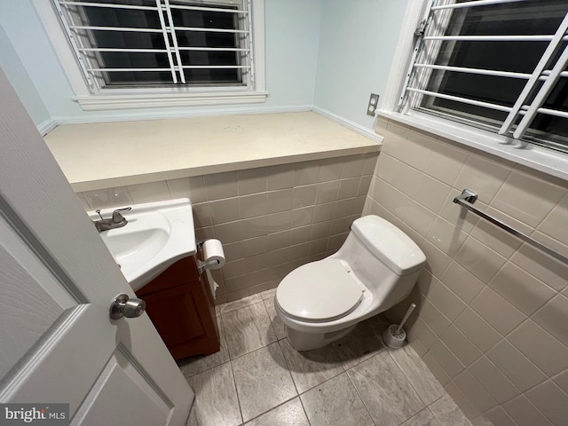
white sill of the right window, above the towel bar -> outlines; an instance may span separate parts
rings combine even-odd
[[[376,114],[568,181],[568,154],[428,114],[407,115],[383,110]]]

